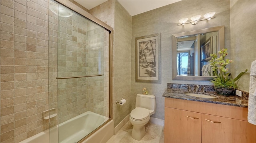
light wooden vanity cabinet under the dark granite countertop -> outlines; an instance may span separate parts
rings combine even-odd
[[[248,108],[165,98],[165,143],[256,143]]]

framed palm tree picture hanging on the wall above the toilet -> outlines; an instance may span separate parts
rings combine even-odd
[[[160,33],[135,38],[135,81],[161,83]]]

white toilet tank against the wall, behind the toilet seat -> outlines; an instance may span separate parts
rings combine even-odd
[[[137,94],[135,107],[146,108],[150,115],[156,112],[156,97],[154,95]]]

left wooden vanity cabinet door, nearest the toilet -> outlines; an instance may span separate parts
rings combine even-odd
[[[165,143],[201,143],[202,114],[165,108]]]

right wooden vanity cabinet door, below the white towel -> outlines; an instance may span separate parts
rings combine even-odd
[[[202,143],[256,143],[256,126],[247,121],[202,114]]]

